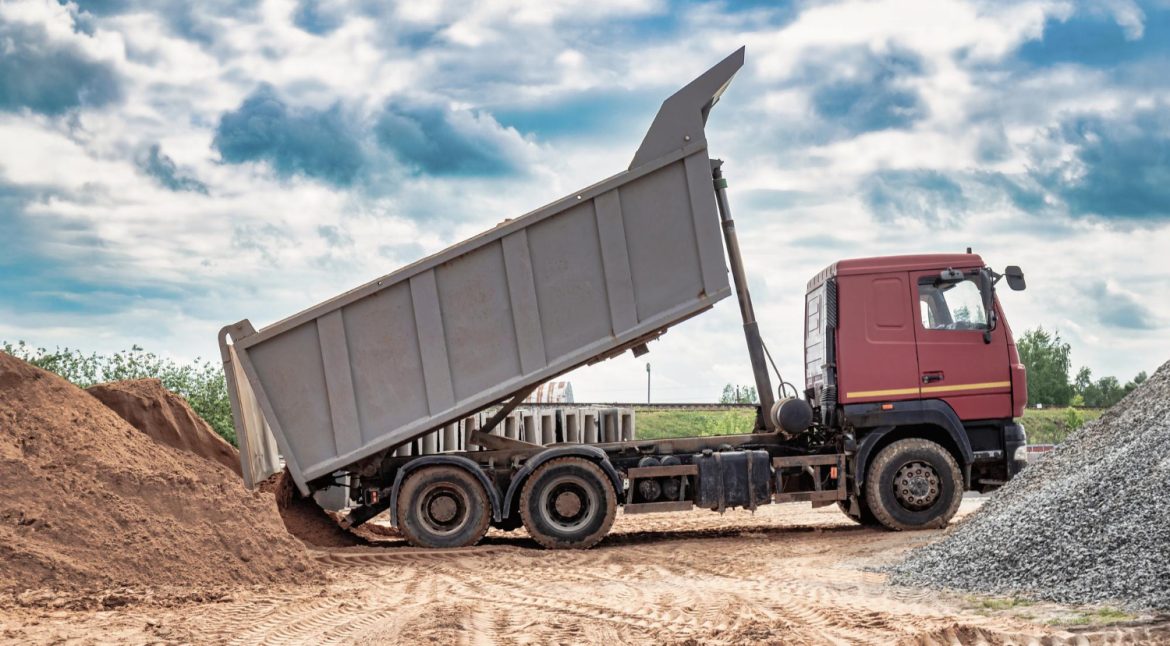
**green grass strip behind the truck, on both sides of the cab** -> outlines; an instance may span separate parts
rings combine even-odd
[[[1069,413],[1074,411],[1074,413]],[[1092,421],[1103,411],[1095,408],[1028,408],[1024,411],[1024,426],[1031,444],[1060,444],[1075,428],[1076,419]],[[728,411],[636,411],[638,438],[704,438],[751,433],[756,413],[750,408]]]

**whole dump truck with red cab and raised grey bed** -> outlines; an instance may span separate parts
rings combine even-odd
[[[937,528],[965,490],[1012,477],[1027,396],[996,287],[1023,289],[1018,267],[970,249],[830,264],[805,297],[804,389],[773,390],[704,132],[743,61],[667,98],[627,170],[261,330],[225,327],[247,485],[285,468],[302,495],[342,488],[345,527],[388,513],[424,548],[521,525],[545,548],[589,548],[619,507],[803,501]],[[645,352],[732,289],[760,399],[751,433],[542,445],[496,429],[539,384]],[[402,451],[484,412],[466,446]]]

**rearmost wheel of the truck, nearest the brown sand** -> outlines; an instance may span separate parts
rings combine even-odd
[[[483,485],[450,465],[424,467],[398,492],[398,529],[419,548],[466,548],[488,532],[491,502]]]

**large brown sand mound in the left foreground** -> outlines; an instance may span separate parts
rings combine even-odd
[[[307,580],[273,497],[0,352],[0,592]]]

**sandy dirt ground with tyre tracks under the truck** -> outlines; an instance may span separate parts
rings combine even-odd
[[[978,500],[964,501],[961,514]],[[447,552],[387,540],[314,551],[324,584],[105,611],[0,609],[0,641],[60,644],[1164,644],[1170,625],[892,587],[868,571],[938,531],[854,525],[834,507],[620,516],[589,551],[523,530]]]

